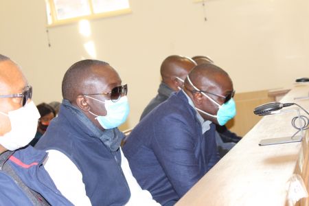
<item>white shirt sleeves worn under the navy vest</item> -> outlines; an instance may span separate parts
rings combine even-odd
[[[45,160],[44,167],[49,173],[49,176],[52,177],[57,189],[74,205],[91,205],[84,183],[82,182],[82,173],[76,165],[69,157],[58,150],[47,150],[47,152],[48,157]],[[120,152],[122,157],[122,171],[128,182],[131,194],[126,205],[160,205],[152,199],[150,192],[141,189],[121,149]]]

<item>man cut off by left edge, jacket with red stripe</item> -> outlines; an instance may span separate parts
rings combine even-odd
[[[43,167],[47,153],[27,146],[40,117],[19,66],[0,54],[0,205],[72,205]]]

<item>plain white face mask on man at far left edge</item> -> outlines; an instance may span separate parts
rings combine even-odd
[[[11,130],[5,135],[0,136],[0,144],[8,150],[17,150],[26,146],[34,139],[40,113],[34,102],[29,102],[25,106],[8,114],[0,111],[2,115],[9,117]]]

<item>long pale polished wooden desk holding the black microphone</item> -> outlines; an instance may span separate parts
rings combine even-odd
[[[294,100],[308,92],[309,84],[295,85],[281,102],[295,102],[309,110],[308,99]],[[308,188],[308,133],[302,142],[258,145],[261,139],[295,133],[290,122],[297,113],[286,109],[290,111],[263,117],[176,205],[288,205],[288,181],[293,174],[300,174]],[[308,199],[297,204],[308,205]]]

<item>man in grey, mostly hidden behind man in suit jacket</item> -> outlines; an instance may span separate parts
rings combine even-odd
[[[181,90],[187,73],[195,66],[196,63],[185,56],[172,55],[165,58],[161,64],[162,82],[159,85],[158,94],[144,108],[140,120],[156,106],[168,100],[172,92]]]

